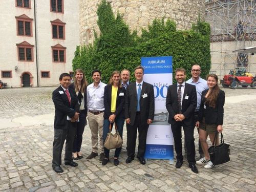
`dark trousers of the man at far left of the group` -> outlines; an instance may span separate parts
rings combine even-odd
[[[65,146],[65,162],[72,161],[73,142],[76,134],[76,123],[67,121],[67,129],[54,129],[54,141],[52,148],[52,167],[61,165],[61,152],[63,144]]]

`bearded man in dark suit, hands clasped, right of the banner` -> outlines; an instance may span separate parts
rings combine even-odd
[[[186,72],[183,68],[176,69],[175,79],[177,83],[168,87],[166,96],[166,109],[169,112],[168,123],[172,125],[175,151],[177,154],[176,168],[180,168],[183,163],[181,126],[184,130],[185,142],[187,146],[187,161],[194,173],[198,173],[195,160],[195,143],[193,121],[194,111],[197,106],[196,87],[185,83]]]

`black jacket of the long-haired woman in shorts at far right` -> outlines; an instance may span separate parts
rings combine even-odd
[[[209,106],[208,104],[205,104],[204,109],[204,102],[203,98],[205,97],[207,90],[204,90],[202,92],[202,98],[201,98],[201,104],[199,109],[199,121],[202,121],[203,117],[205,117],[205,123],[206,124],[223,124],[223,116],[224,116],[224,103],[225,103],[225,92],[220,90],[218,97],[217,97],[217,104],[215,108],[212,108],[212,106]]]

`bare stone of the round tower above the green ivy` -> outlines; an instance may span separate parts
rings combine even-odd
[[[97,26],[97,8],[100,0],[79,0],[80,44],[91,43]],[[198,16],[204,16],[205,0],[112,0],[112,9],[123,15],[131,30],[141,33],[155,18],[175,20],[177,29],[189,29]]]

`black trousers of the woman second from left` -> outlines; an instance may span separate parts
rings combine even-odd
[[[79,111],[79,122],[76,126],[76,135],[73,144],[73,152],[80,152],[82,145],[82,134],[86,126],[86,112],[85,110]]]

